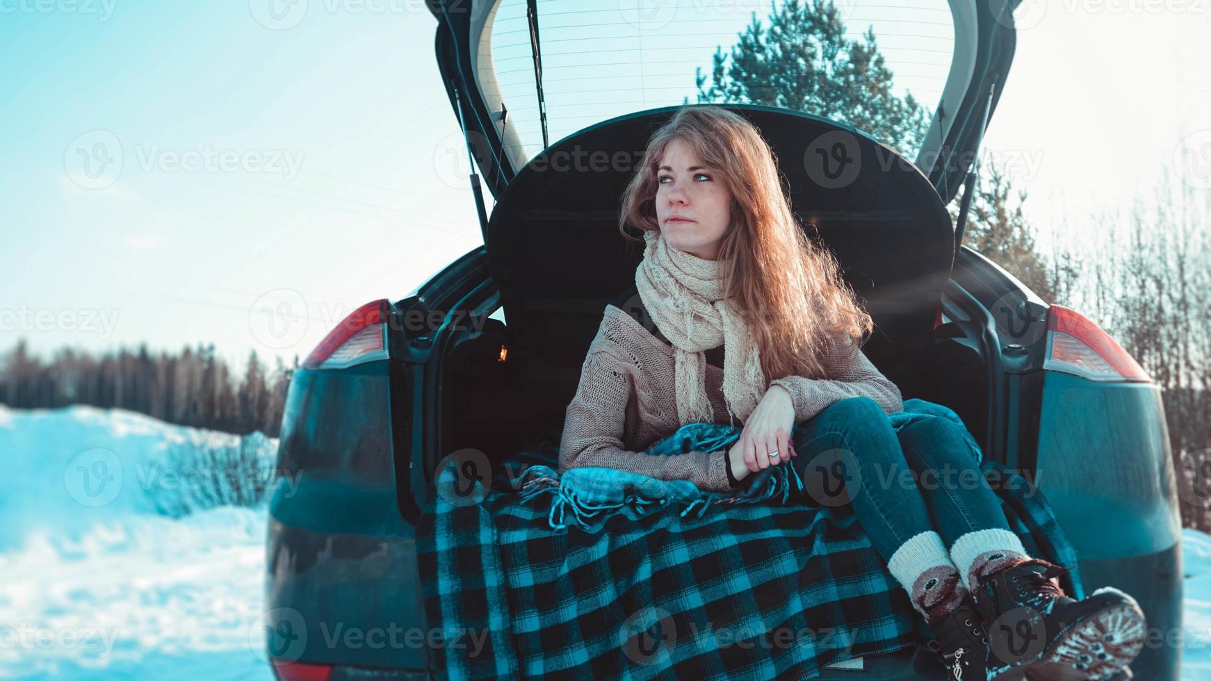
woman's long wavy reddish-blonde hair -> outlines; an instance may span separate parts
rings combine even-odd
[[[825,377],[820,359],[849,336],[861,347],[874,329],[831,250],[809,238],[791,209],[788,186],[773,149],[739,114],[689,104],[653,133],[622,192],[618,227],[660,230],[656,189],[668,144],[688,144],[731,191],[731,221],[719,244],[722,290],[745,319],[765,380]]]

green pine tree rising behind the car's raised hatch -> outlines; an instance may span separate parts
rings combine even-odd
[[[845,37],[831,0],[771,2],[769,25],[757,19],[724,52],[716,48],[710,81],[695,74],[699,103],[763,104],[848,123],[912,158],[932,112],[894,91],[895,74],[879,52],[873,27],[861,40]],[[1034,243],[1022,214],[1025,192],[1011,206],[1011,186],[999,169],[981,168],[964,243],[1010,271],[1044,300],[1055,295],[1055,275]],[[957,219],[959,196],[952,202]],[[1071,275],[1071,272],[1069,272]]]

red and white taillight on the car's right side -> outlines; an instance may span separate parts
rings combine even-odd
[[[1052,305],[1048,311],[1048,335],[1045,369],[1094,381],[1152,381],[1127,351],[1075,310]]]

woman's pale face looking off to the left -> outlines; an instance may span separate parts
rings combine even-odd
[[[731,220],[731,191],[694,150],[673,139],[656,172],[656,220],[668,246],[716,260]]]

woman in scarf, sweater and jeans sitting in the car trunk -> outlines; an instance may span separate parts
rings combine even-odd
[[[905,471],[923,480],[976,468],[965,431],[942,417],[893,429],[900,391],[859,350],[872,321],[800,229],[751,123],[683,106],[649,140],[621,203],[620,231],[631,224],[645,242],[637,295],[621,307],[641,312],[606,307],[567,409],[561,472],[609,466],[727,491],[770,466],[843,451],[856,480],[849,502],[952,673],[1103,679],[1138,654],[1135,600],[1064,595],[1054,581],[1064,569],[1027,555],[983,475],[902,484]],[[642,451],[685,423],[737,419],[727,451]]]

